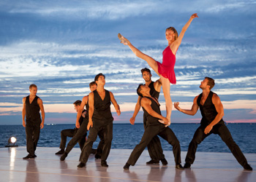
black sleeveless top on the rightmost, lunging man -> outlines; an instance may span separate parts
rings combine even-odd
[[[212,103],[212,97],[214,94],[214,92],[210,91],[208,97],[206,98],[206,102],[203,105],[200,104],[203,93],[201,93],[197,98],[197,105],[200,107],[200,111],[203,116],[200,124],[202,124],[203,126],[208,126],[208,124],[214,121],[215,117],[218,114],[214,103]],[[223,122],[223,119],[220,119],[219,122]]]

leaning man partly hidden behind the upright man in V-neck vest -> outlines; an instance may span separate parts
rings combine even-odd
[[[97,84],[95,82],[91,82],[89,84],[89,87],[91,92],[93,92],[97,89]],[[87,111],[84,109],[84,106],[86,106]],[[80,142],[79,145],[82,151],[84,143],[86,142],[87,124],[89,119],[88,95],[83,97],[83,100],[80,101],[79,107],[76,108],[76,111],[78,111],[77,120],[75,122],[77,132],[75,132],[73,138],[69,141],[69,143],[67,143],[67,148],[60,158],[61,161],[64,161],[64,159],[66,159],[67,155],[73,149],[76,143]],[[85,116],[83,116],[83,113],[85,113]],[[95,149],[91,149],[90,153],[95,154]]]

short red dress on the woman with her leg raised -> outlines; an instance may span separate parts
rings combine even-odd
[[[170,46],[166,47],[162,52],[162,64],[157,61],[158,73],[169,79],[171,84],[176,84],[176,76],[174,72],[175,62],[176,56],[173,55]]]

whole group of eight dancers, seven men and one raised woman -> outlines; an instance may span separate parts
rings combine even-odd
[[[128,45],[138,58],[146,60],[148,65],[159,75],[159,79],[156,82],[152,82],[151,71],[148,68],[143,68],[141,70],[145,84],[140,84],[138,86],[138,102],[136,103],[134,114],[129,121],[131,124],[135,123],[135,117],[137,116],[138,111],[140,111],[140,107],[142,107],[144,112],[143,124],[145,132],[143,133],[140,143],[135,146],[127,163],[124,165],[124,170],[129,170],[130,165],[135,165],[140,154],[146,147],[148,147],[148,153],[151,157],[151,160],[146,162],[146,164],[159,164],[159,161],[161,161],[162,165],[167,165],[167,160],[165,159],[157,135],[161,136],[173,146],[176,168],[178,170],[190,168],[195,161],[197,145],[212,133],[218,134],[222,138],[222,141],[227,144],[234,157],[236,157],[239,164],[244,167],[245,170],[252,170],[252,167],[246,161],[241,149],[233,141],[229,130],[225,126],[222,119],[222,116],[224,116],[222,102],[218,95],[211,91],[215,83],[214,79],[211,79],[210,77],[205,77],[203,82],[201,82],[200,89],[203,90],[203,92],[194,98],[190,110],[180,108],[178,102],[174,103],[174,107],[184,114],[195,115],[198,108],[200,108],[202,114],[200,127],[197,128],[192,141],[189,143],[185,165],[181,165],[180,143],[174,132],[168,127],[170,125],[170,116],[173,106],[170,98],[170,83],[176,84],[176,76],[174,73],[176,52],[184,37],[184,33],[187,31],[187,28],[195,17],[197,17],[196,13],[189,18],[189,21],[184,25],[179,36],[175,28],[170,27],[166,29],[165,36],[168,41],[168,46],[163,51],[162,63],[159,63],[150,56],[140,52],[140,50],[134,47],[128,39],[118,33],[118,39],[121,40],[121,43]],[[77,100],[74,103],[75,110],[78,112],[75,123],[76,128],[75,130],[61,131],[61,136],[63,136],[61,137],[61,150],[56,154],[62,154],[60,159],[61,161],[64,161],[75,144],[79,142],[81,154],[78,167],[86,166],[86,162],[91,153],[95,154],[97,159],[101,159],[102,167],[108,167],[107,159],[113,138],[113,116],[110,111],[110,104],[113,103],[118,116],[121,114],[121,111],[113,93],[104,88],[105,75],[97,74],[94,78],[94,82],[91,82],[89,86],[91,90],[89,95],[83,97],[82,101]],[[166,116],[162,116],[159,108],[158,98],[161,87],[165,96]],[[30,95],[23,98],[22,112],[23,127],[26,127],[27,151],[29,154],[26,157],[23,157],[23,159],[33,159],[34,157],[37,157],[34,154],[34,151],[37,148],[40,128],[42,129],[42,127],[44,127],[45,122],[45,111],[42,100],[36,95],[37,86],[31,84],[29,90]],[[86,111],[84,106],[86,106]],[[39,114],[40,110],[42,119]],[[86,139],[87,131],[89,131],[89,136]],[[67,144],[67,148],[64,149],[66,135],[71,136],[72,139]],[[96,150],[92,149],[92,146],[97,139],[97,135],[99,135],[100,142]]]

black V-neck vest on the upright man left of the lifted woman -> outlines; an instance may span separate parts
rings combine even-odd
[[[103,126],[113,122],[110,105],[110,93],[108,90],[105,90],[105,98],[103,100],[97,90],[94,90],[94,115],[92,116],[94,126]]]

